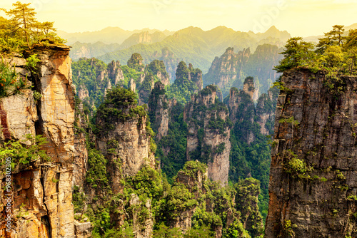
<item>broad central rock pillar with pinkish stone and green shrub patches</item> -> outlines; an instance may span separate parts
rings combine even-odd
[[[208,164],[208,178],[228,182],[231,120],[226,105],[216,100],[216,86],[191,96],[183,118],[188,124],[187,160]]]

